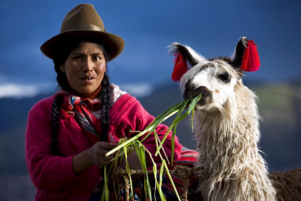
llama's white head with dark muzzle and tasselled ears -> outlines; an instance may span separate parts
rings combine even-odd
[[[248,61],[244,61],[246,51],[252,51],[247,55],[249,59],[252,58],[253,51],[256,50],[254,45],[253,41],[243,37],[237,42],[231,57],[206,59],[186,45],[173,43],[170,46],[170,51],[174,53],[176,59],[172,78],[175,81],[180,79],[183,99],[191,99],[202,94],[195,107],[196,110],[223,110],[226,103],[233,104],[235,102],[235,87],[242,85],[242,69],[254,71],[254,69],[250,69],[250,67],[254,67],[253,61],[249,62],[251,66],[247,65]],[[257,59],[258,64],[258,54]],[[186,62],[189,63],[191,69],[187,66],[186,73],[179,73],[177,68],[185,67]]]

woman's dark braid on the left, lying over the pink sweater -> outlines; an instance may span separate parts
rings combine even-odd
[[[60,150],[57,149],[58,117],[63,100],[64,98],[62,95],[57,95],[51,107],[52,143],[50,144],[50,150],[54,156],[63,156]]]

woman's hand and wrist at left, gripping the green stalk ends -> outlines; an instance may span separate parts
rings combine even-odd
[[[116,152],[107,157],[104,155],[117,146],[119,145],[108,142],[97,142],[90,149],[73,156],[72,166],[74,174],[78,175],[92,165],[102,167],[110,164]]]

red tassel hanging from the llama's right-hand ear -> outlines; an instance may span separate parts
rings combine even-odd
[[[248,41],[248,46],[244,51],[241,69],[247,72],[259,70],[260,61],[257,45],[253,41]]]

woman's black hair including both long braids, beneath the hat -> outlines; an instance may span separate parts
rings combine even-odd
[[[91,39],[91,37],[85,39],[84,37],[81,37],[80,39],[71,37],[68,38],[68,40],[64,40],[60,43],[60,47],[55,48],[57,52],[54,54],[54,69],[55,72],[57,73],[57,83],[58,83],[58,88],[62,88],[66,91],[70,91],[70,85],[66,76],[66,73],[62,72],[60,69],[60,65],[63,65],[67,57],[69,56],[70,52],[78,47],[79,45],[85,43],[85,42],[92,42],[98,45],[98,47],[101,49],[101,51],[104,54],[104,58],[106,61],[110,60],[110,55],[106,51],[106,45],[102,41],[96,41]],[[107,70],[104,73],[104,78],[101,81],[101,103],[102,103],[102,122],[101,122],[101,134],[100,134],[100,139],[101,141],[106,141],[107,139],[107,134],[109,132],[109,122],[110,122],[110,80],[109,77],[107,76]],[[56,99],[53,102],[52,105],[52,115],[51,115],[51,125],[52,125],[52,130],[53,130],[53,142],[51,144],[51,151],[54,155],[56,156],[61,156],[61,152],[57,149],[57,131],[58,131],[58,110],[61,107],[61,104],[63,104],[63,101],[60,100],[60,98],[57,96]]]

